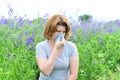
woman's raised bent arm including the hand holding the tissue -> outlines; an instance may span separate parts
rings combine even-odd
[[[52,50],[52,53],[48,59],[37,58],[38,67],[40,71],[43,72],[44,75],[49,76],[50,73],[52,72],[56,62],[56,57],[61,54],[64,44],[65,44],[65,39],[56,42]]]

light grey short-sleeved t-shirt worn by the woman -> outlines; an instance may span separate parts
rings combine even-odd
[[[48,59],[51,52],[48,40],[39,42],[36,45],[37,58]],[[70,58],[74,56],[78,56],[76,45],[70,41],[66,41],[62,54],[56,58],[56,63],[51,74],[47,77],[41,72],[39,80],[67,80],[70,75]]]

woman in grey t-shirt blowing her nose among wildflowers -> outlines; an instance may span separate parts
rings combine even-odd
[[[56,41],[59,33],[60,37]],[[39,80],[76,80],[78,74],[78,50],[70,37],[70,23],[64,15],[56,14],[48,19],[44,30],[45,41],[36,45],[36,60],[40,69]]]

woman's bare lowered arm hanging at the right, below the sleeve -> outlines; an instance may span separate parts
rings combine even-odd
[[[67,80],[76,80],[79,68],[79,57],[71,57],[70,58],[70,76]]]

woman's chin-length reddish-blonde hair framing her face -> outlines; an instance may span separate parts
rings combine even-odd
[[[67,20],[66,16],[60,14],[55,14],[48,19],[44,29],[44,37],[49,40],[52,34],[57,31],[58,25],[62,25],[66,27],[65,39],[68,39],[71,36],[70,22]]]

